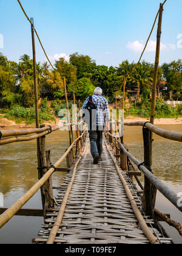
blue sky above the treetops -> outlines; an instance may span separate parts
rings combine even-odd
[[[54,63],[59,56],[73,52],[87,54],[98,65],[118,66],[123,60],[137,61],[143,49],[160,2],[163,0],[22,0],[42,44]],[[32,56],[30,24],[16,0],[0,0],[0,52],[18,61]],[[167,0],[164,5],[160,63],[182,59],[182,1]],[[157,25],[143,59],[154,62]],[[177,39],[177,36],[179,37]],[[181,48],[180,48],[180,47]],[[2,43],[0,42],[0,47]],[[36,41],[37,61],[44,62]]]

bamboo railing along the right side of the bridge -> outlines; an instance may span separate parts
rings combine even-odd
[[[121,124],[121,122],[119,123]],[[136,159],[132,154],[129,153],[129,151],[127,151],[126,146],[124,146],[124,144],[122,144],[118,138],[116,138],[115,135],[113,135],[112,133],[108,132],[107,134],[109,135],[109,141],[110,143],[113,144],[114,148],[120,148],[120,152],[121,154],[119,155],[119,157],[121,158],[123,155],[125,155],[125,158],[129,158],[136,166],[138,166],[138,169],[140,169],[140,171],[143,172],[146,180],[145,180],[145,187],[147,186],[147,189],[144,188],[144,193],[146,193],[146,191],[149,191],[149,196],[152,196],[152,192],[151,192],[151,183],[152,185],[154,185],[157,190],[159,190],[164,197],[166,197],[170,202],[172,202],[172,204],[174,204],[174,206],[176,208],[178,208],[178,210],[180,210],[180,212],[182,212],[182,206],[180,206],[178,204],[180,197],[177,196],[177,194],[175,194],[172,190],[170,190],[166,185],[164,185],[163,182],[161,182],[160,179],[158,179],[153,173],[152,173],[152,169],[149,166],[150,163],[150,132],[153,132],[157,135],[159,135],[160,137],[169,139],[169,140],[174,140],[174,141],[182,141],[182,133],[181,132],[170,132],[167,130],[163,130],[158,128],[157,126],[154,126],[153,124],[149,123],[149,122],[135,122],[135,123],[124,123],[124,126],[141,126],[143,127],[143,129],[145,128],[146,130],[149,130],[149,137],[147,138],[149,141],[148,143],[146,143],[146,137],[144,137],[144,154],[149,158],[148,159],[148,164],[146,165],[146,162],[144,163],[140,163],[140,161],[138,159]],[[146,147],[146,145],[148,146],[148,148]],[[148,152],[147,152],[148,151]],[[146,159],[145,159],[146,161]],[[122,162],[122,160],[121,160]],[[149,182],[149,183],[146,183]],[[144,197],[147,198],[147,195],[144,194]],[[143,197],[143,198],[144,198]],[[149,197],[148,197],[149,198]],[[155,200],[154,200],[155,202]],[[146,204],[151,204],[152,203],[152,199],[150,202],[145,202]],[[155,204],[153,205],[153,207],[155,207]],[[151,205],[149,205],[149,208],[151,208]]]

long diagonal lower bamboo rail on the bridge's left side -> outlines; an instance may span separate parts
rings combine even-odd
[[[85,130],[84,130],[85,132]],[[73,141],[72,145],[70,146],[69,149],[62,155],[62,157],[58,160],[58,162],[55,163],[54,167],[57,168],[61,163],[64,161],[64,159],[67,157],[69,152],[72,150],[73,146],[78,140],[81,140],[83,138],[84,132],[82,135],[75,141]],[[50,168],[49,171],[47,171],[44,176],[36,182],[36,184],[30,188],[27,193],[24,194],[18,201],[15,202],[11,207],[9,207],[2,215],[0,215],[0,229],[10,221],[10,219],[13,218],[13,216],[16,215],[16,213],[36,194],[36,192],[44,185],[44,183],[52,176],[53,172],[55,171],[55,168]]]

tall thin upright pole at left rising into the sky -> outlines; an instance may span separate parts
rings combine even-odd
[[[36,76],[36,51],[35,51],[35,28],[33,25],[33,18],[31,18],[32,25],[32,51],[33,51],[33,77],[34,77],[34,90],[35,90],[35,116],[36,116],[36,128],[39,128],[39,110],[38,110],[38,84]],[[40,139],[36,140],[37,145],[37,158],[38,158],[38,168],[41,167],[41,151],[40,151]],[[38,171],[38,178],[41,179],[41,170]]]

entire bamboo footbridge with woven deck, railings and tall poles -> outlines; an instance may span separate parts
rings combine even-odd
[[[21,5],[20,1],[18,2]],[[151,169],[152,161],[155,161],[152,159],[152,133],[169,140],[182,142],[182,133],[169,132],[153,125],[161,22],[165,3],[166,1],[160,5],[157,13],[157,17],[159,16],[158,41],[150,122],[124,123],[123,118],[112,119],[110,131],[104,133],[103,162],[98,165],[93,165],[87,126],[82,120],[76,121],[76,111],[73,114],[74,121],[72,122],[69,118],[70,115],[67,115],[67,124],[64,124],[64,128],[67,127],[68,129],[70,147],[54,165],[50,163],[50,151],[45,149],[45,140],[50,133],[61,128],[59,126],[45,127],[44,124],[39,125],[34,38],[36,30],[34,29],[33,20],[29,19],[21,5],[32,26],[36,128],[1,130],[0,146],[3,149],[5,144],[36,140],[39,180],[11,207],[0,208],[0,229],[13,216],[19,215],[44,217],[42,230],[32,240],[32,243],[35,244],[172,244],[172,238],[167,235],[158,222],[161,220],[174,226],[182,235],[180,224],[155,209],[157,191],[160,191],[180,212],[182,212],[181,204],[179,204],[181,198],[167,188],[153,174]],[[154,25],[155,23],[153,27]],[[38,36],[37,32],[36,35]],[[39,42],[41,43],[40,40]],[[45,55],[47,56],[47,54]],[[126,81],[127,77],[123,80],[124,92]],[[69,113],[65,78],[64,90],[67,113]],[[76,104],[74,92],[73,101]],[[131,155],[129,149],[127,149],[124,143],[124,134],[120,132],[124,129],[124,126],[141,126],[144,143],[143,163]],[[73,140],[73,128],[76,132],[76,140]],[[67,168],[60,168],[59,166],[65,159],[67,160]],[[57,171],[67,171],[67,175],[64,177],[64,183],[54,188],[52,175]],[[144,174],[145,177],[144,186],[139,179],[141,174]],[[138,190],[138,187],[141,190]],[[53,196],[55,189],[58,191],[56,197]],[[39,190],[41,190],[42,209],[28,210],[22,208]]]

